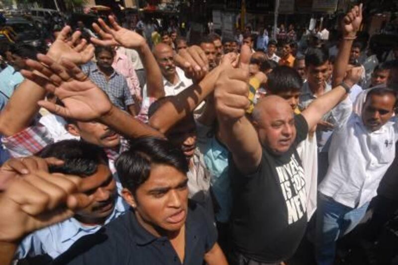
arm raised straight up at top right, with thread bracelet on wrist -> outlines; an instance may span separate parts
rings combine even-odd
[[[344,76],[347,72],[352,43],[356,38],[356,33],[361,26],[361,22],[362,3],[359,6],[354,6],[342,20],[341,28],[343,30],[343,36],[333,67],[333,87],[336,87],[344,79]]]

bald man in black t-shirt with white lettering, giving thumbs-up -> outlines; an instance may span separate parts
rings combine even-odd
[[[282,97],[266,96],[254,108],[253,123],[245,115],[247,72],[231,69],[221,74],[214,97],[220,135],[232,154],[230,264],[280,264],[297,250],[307,223],[305,175],[297,146],[308,128],[346,97],[359,78],[357,71],[298,115]]]

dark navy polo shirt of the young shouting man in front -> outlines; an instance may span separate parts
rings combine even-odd
[[[189,201],[185,227],[183,264],[202,265],[204,254],[217,240],[216,228],[205,210],[193,201]],[[54,264],[169,265],[181,262],[168,238],[150,234],[130,210],[97,233],[78,240]]]

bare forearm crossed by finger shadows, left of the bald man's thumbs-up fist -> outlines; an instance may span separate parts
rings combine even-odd
[[[215,82],[221,71],[221,67],[215,68],[198,85],[194,84],[170,97],[149,119],[149,124],[162,133],[167,132],[173,125],[192,113],[200,102],[214,90]]]

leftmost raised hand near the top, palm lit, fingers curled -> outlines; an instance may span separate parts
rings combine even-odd
[[[87,44],[85,39],[80,39],[82,33],[75,31],[69,39],[68,34],[71,32],[70,26],[65,26],[58,35],[55,42],[51,45],[47,52],[54,61],[60,61],[67,58],[71,62],[80,65],[90,61],[94,56],[93,44]]]

